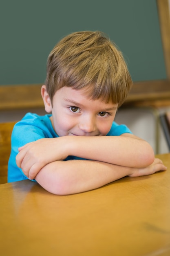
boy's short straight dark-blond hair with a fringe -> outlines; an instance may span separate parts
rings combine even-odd
[[[121,52],[106,35],[80,31],[60,40],[48,57],[46,90],[51,101],[64,86],[85,88],[90,99],[120,106],[132,80]]]

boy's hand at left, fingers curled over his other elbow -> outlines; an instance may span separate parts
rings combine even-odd
[[[38,139],[20,147],[16,164],[33,180],[46,165],[68,157],[66,137]]]

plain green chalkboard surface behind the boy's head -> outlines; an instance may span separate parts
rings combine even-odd
[[[133,81],[166,79],[156,0],[1,0],[0,85],[43,83],[46,59],[63,36],[108,34]]]

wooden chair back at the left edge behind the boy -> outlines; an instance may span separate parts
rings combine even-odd
[[[11,153],[11,133],[16,121],[0,123],[0,184],[7,183],[8,160]]]

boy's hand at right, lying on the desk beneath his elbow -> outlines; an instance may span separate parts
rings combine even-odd
[[[154,162],[145,168],[134,168],[133,173],[128,175],[129,177],[139,177],[144,175],[150,175],[158,171],[166,171],[167,167],[159,158],[155,158]]]

